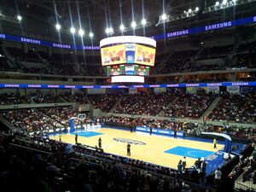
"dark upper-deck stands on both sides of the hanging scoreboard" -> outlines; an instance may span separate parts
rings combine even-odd
[[[233,44],[223,45],[223,46],[213,46],[213,47],[201,47],[200,49],[189,49],[181,50],[172,53],[171,56],[168,54],[163,54],[158,56],[162,58],[157,60],[158,62],[164,64],[164,67],[158,68],[156,73],[180,73],[180,72],[195,72],[195,71],[209,71],[209,70],[224,70],[228,67],[253,67],[253,63],[256,60],[254,53],[255,42],[249,42],[241,44],[237,49],[236,53],[233,53],[236,58],[236,62],[225,63],[224,66],[219,66],[218,63],[212,65],[198,65],[198,60],[208,60],[208,59],[225,59],[227,55],[230,55],[234,49]],[[38,51],[38,55],[35,50],[29,49],[27,53],[24,53],[23,49],[8,47],[10,55],[12,55],[16,61],[26,62],[38,62],[42,63],[44,61],[49,63],[49,66],[44,66],[41,69],[27,68],[25,66],[20,66],[20,70],[23,72],[30,73],[47,73],[47,74],[58,74],[58,75],[105,75],[102,69],[101,60],[99,56],[95,58],[88,56],[84,59],[84,56],[70,54],[52,54],[49,55],[44,51]],[[76,59],[74,59],[76,58]],[[0,65],[0,70],[15,71],[15,68],[9,67],[6,61],[1,60],[3,65]],[[156,63],[156,66],[158,64]],[[154,72],[152,72],[154,73]]]

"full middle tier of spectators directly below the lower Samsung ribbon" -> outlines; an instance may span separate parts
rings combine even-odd
[[[119,100],[119,94],[86,95],[85,93],[20,93],[0,94],[1,105],[77,102],[78,104],[91,103],[93,108],[100,108],[103,112],[109,112]],[[138,93],[125,94],[113,113],[125,113],[132,115],[162,116],[170,118],[200,119],[207,108],[216,98],[214,94],[204,92],[197,94],[177,93]],[[207,116],[207,120],[249,123],[255,122],[255,96],[232,95],[222,93],[220,102]]]

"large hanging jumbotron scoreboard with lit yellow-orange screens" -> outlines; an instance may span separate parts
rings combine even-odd
[[[118,36],[100,42],[102,67],[112,83],[144,83],[154,67],[156,42],[152,38]]]

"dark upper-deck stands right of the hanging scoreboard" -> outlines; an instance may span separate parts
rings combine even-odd
[[[233,53],[234,44],[177,51],[172,53],[171,56],[161,56],[162,60],[159,60],[159,62],[164,64],[164,67],[160,67],[160,70],[157,69],[157,73],[165,74],[225,70],[230,67],[254,67],[254,62],[256,61],[254,54],[255,47],[256,43],[250,42],[241,44],[235,53]],[[226,59],[231,54],[233,54],[236,62]],[[212,59],[222,59],[224,60],[224,65],[219,65],[218,61],[211,65],[207,63],[204,65],[203,62],[197,62]]]

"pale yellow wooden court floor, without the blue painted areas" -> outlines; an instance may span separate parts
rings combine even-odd
[[[182,138],[163,137],[157,135],[149,135],[143,132],[130,132],[117,129],[101,128],[93,130],[102,135],[93,137],[81,137],[79,136],[78,142],[90,146],[98,145],[98,138],[102,138],[102,148],[105,152],[110,154],[118,154],[126,156],[127,143],[120,142],[124,139],[131,139],[137,142],[145,143],[144,145],[131,143],[131,157],[132,159],[143,160],[160,166],[168,166],[173,169],[177,169],[177,163],[183,159],[183,156],[177,154],[167,154],[166,150],[175,147],[184,148],[197,148],[201,150],[207,150],[216,152],[224,145],[217,145],[217,148],[213,148],[212,143],[204,143],[199,141],[192,141]],[[55,140],[59,140],[59,136],[50,137]],[[116,138],[114,140],[114,138]],[[116,141],[118,140],[118,141]],[[75,143],[75,136],[71,134],[61,135],[61,141],[64,143]],[[195,164],[194,158],[187,157],[187,166],[193,166]]]

